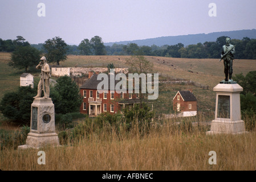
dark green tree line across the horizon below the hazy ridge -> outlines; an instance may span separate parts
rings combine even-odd
[[[164,45],[164,46],[138,46],[136,43],[124,44],[113,44],[112,46],[104,46],[104,43],[100,36],[94,36],[93,38],[83,39],[78,46],[67,45],[61,43],[63,53],[63,59],[65,55],[144,55],[144,56],[163,56],[163,57],[181,57],[181,58],[196,58],[196,59],[208,59],[220,58],[222,46],[225,45],[225,39],[227,36],[220,36],[216,42],[205,42],[191,44],[184,46],[182,43],[176,45]],[[59,38],[60,42],[57,41],[57,37],[53,38],[56,45],[60,42],[64,42]],[[54,49],[54,46],[50,46],[54,40],[46,40],[40,44],[29,44],[25,42],[22,36],[17,36],[15,40],[2,40],[0,39],[0,52],[13,52],[17,46],[28,46],[38,49],[42,53],[49,55],[49,49]],[[236,53],[235,59],[256,59],[256,39],[243,38],[231,39],[231,44],[235,45]],[[50,60],[52,56],[50,56]],[[52,61],[52,60],[51,60]],[[54,62],[59,64],[58,60]]]

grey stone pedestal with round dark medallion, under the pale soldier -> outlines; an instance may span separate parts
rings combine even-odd
[[[31,105],[30,133],[26,144],[18,146],[18,149],[47,145],[59,146],[58,134],[55,133],[54,104],[51,98],[35,98]]]

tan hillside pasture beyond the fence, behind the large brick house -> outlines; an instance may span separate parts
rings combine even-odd
[[[224,64],[219,59],[183,59],[172,57],[145,56],[154,64],[153,71],[164,75],[186,78],[188,80],[209,85],[211,88],[224,80]],[[115,67],[125,67],[125,59],[129,56],[68,56],[64,67],[97,65],[113,63]],[[129,68],[128,65],[126,67]],[[233,75],[256,70],[256,60],[234,60]],[[189,72],[190,71],[190,72]]]

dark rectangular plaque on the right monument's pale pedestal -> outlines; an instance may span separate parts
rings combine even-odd
[[[218,118],[230,118],[230,96],[218,96]]]

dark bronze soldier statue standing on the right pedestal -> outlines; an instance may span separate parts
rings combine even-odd
[[[235,46],[230,44],[230,38],[226,38],[226,45],[222,46],[221,53],[221,60],[224,60],[225,81],[232,81],[234,54]]]

